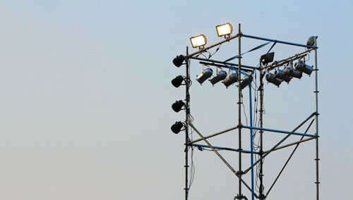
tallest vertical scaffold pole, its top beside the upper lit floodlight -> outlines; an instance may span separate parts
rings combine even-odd
[[[241,31],[240,31],[240,23],[239,23],[239,28],[238,28],[238,130],[239,130],[239,194],[238,194],[238,199],[241,199],[242,194],[241,194],[241,87],[240,87],[240,82],[241,82]]]

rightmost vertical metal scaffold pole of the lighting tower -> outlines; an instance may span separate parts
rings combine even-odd
[[[317,37],[314,37],[315,38],[315,46],[317,46],[317,43],[316,43],[316,39]],[[318,54],[317,54],[317,49],[314,50],[314,53],[315,53],[315,110],[316,110],[316,158],[315,158],[315,161],[316,161],[316,200],[318,200],[318,185],[320,184],[320,182],[318,181],[318,161],[320,160],[318,158]]]

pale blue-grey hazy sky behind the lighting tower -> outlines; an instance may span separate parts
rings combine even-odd
[[[186,54],[186,46],[197,50],[190,37],[204,34],[208,44],[220,42],[215,25],[222,23],[234,31],[240,23],[246,35],[301,44],[318,36],[320,194],[323,200],[349,199],[352,6],[352,1],[1,0],[0,199],[183,199],[184,135],[174,135],[170,126],[184,120],[171,105],[185,98],[185,90],[170,81],[184,75],[185,67],[176,68],[172,59]],[[244,38],[242,52],[263,43]],[[237,48],[237,41],[222,44],[213,58],[224,61]],[[269,48],[241,62],[256,66]],[[275,60],[303,50],[273,48]],[[237,88],[200,85],[195,77],[201,70],[191,61],[193,125],[203,135],[237,125]],[[313,113],[313,83],[313,75],[279,88],[265,82],[264,126],[292,130]],[[243,95],[246,124],[249,89]],[[243,135],[248,145],[249,133]],[[267,133],[265,147],[282,137]],[[237,148],[237,132],[210,142]],[[315,198],[314,148],[313,141],[299,146],[268,199]],[[265,159],[265,190],[291,151]],[[238,168],[237,154],[220,153]],[[244,168],[249,161],[244,156]],[[189,199],[237,195],[236,177],[213,152],[195,149],[193,162]]]

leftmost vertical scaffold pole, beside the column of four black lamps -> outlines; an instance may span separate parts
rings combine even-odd
[[[190,75],[189,75],[189,48],[186,46],[186,78],[185,78],[185,86],[186,86],[186,96],[185,96],[185,200],[188,200],[189,196],[189,185],[188,185],[188,169],[189,169],[189,124],[187,123],[189,121],[189,115],[190,115],[190,94],[189,94],[189,87],[190,87]]]

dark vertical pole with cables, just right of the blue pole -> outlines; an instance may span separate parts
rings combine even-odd
[[[263,128],[263,70],[260,61],[260,127]],[[263,130],[260,130],[260,159],[263,157]],[[263,160],[260,161],[260,194],[259,199],[265,199],[263,194]]]

